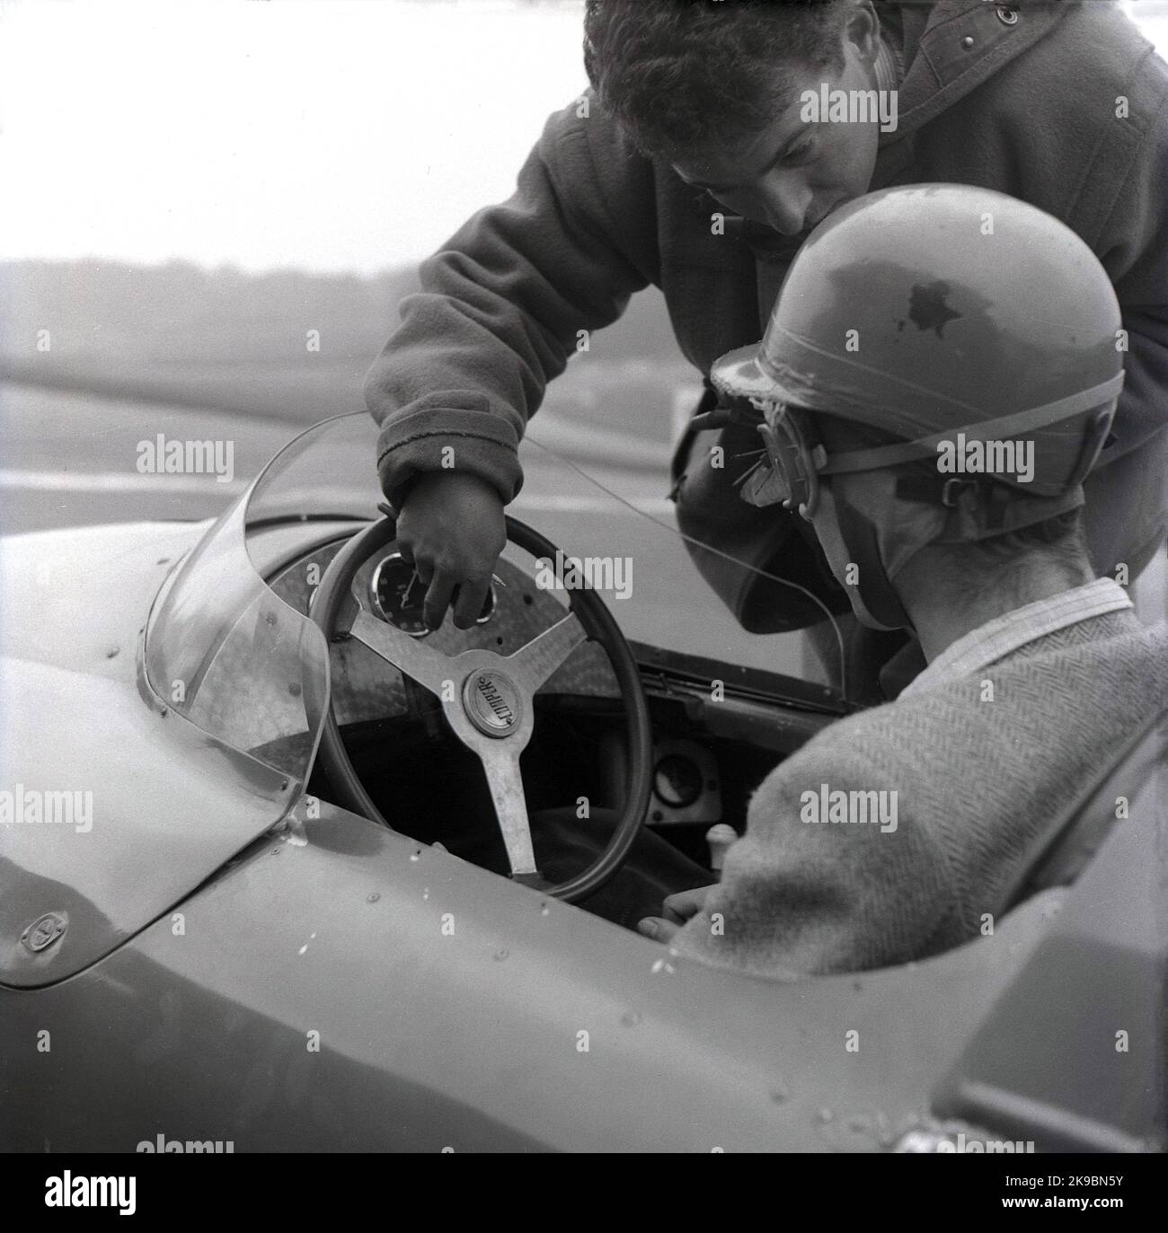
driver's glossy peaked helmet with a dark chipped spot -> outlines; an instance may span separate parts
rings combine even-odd
[[[1073,231],[1000,192],[918,184],[820,223],[762,342],[722,356],[710,379],[761,412],[766,455],[745,499],[810,514],[820,476],[916,462],[895,497],[937,507],[930,540],[962,541],[1082,504],[1122,386],[1122,338],[1106,271]],[[821,414],[889,444],[829,456]],[[871,623],[905,624],[888,615]]]

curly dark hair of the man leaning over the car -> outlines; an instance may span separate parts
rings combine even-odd
[[[643,154],[752,133],[793,86],[776,65],[842,68],[847,0],[588,0],[585,69]]]

